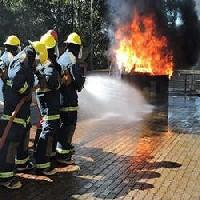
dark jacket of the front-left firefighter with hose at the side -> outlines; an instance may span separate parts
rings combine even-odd
[[[4,94],[4,117],[11,116],[16,105],[27,95],[30,95],[34,83],[34,74],[32,68],[24,61],[26,54],[24,52],[15,56],[8,68],[8,79],[6,85],[8,88]],[[24,104],[17,118],[26,120],[30,115],[30,103]]]

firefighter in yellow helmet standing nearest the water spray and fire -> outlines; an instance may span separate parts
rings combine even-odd
[[[72,154],[74,146],[72,137],[76,129],[78,95],[83,88],[85,78],[82,76],[77,58],[81,54],[81,38],[77,33],[71,33],[66,43],[66,51],[58,59],[62,68],[61,84],[61,130],[58,134],[57,161],[64,164],[74,164]]]

